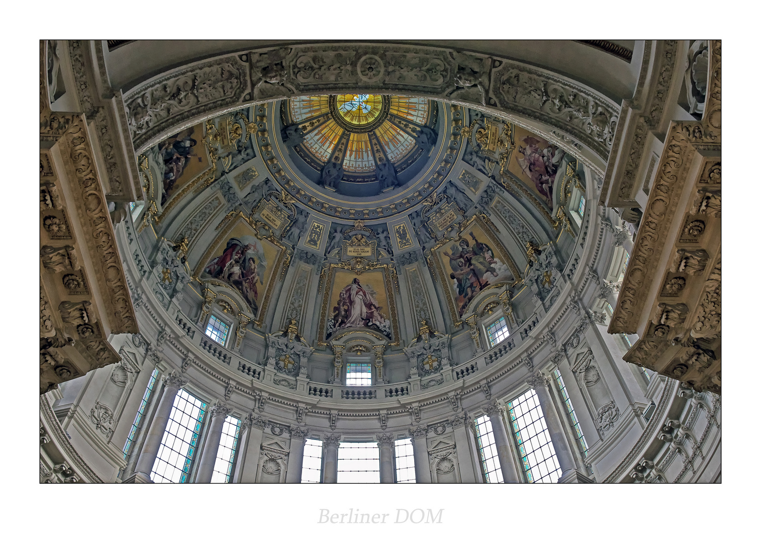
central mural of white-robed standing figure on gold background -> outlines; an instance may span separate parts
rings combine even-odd
[[[370,328],[393,340],[389,295],[384,270],[370,270],[358,275],[336,270],[328,300],[325,340],[339,331]]]

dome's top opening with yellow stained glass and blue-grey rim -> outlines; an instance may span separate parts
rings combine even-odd
[[[381,94],[295,97],[281,104],[281,136],[320,187],[374,196],[405,184],[435,145],[438,104]]]

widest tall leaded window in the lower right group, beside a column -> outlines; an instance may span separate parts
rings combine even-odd
[[[508,410],[528,482],[558,482],[562,471],[537,393],[531,389],[515,398]]]

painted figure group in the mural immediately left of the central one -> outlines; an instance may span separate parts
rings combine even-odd
[[[260,241],[253,236],[230,238],[224,251],[212,259],[204,273],[234,286],[251,306],[254,313],[259,308],[258,285],[263,285],[267,267]]]

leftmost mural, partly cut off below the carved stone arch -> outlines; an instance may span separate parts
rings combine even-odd
[[[211,160],[202,139],[201,123],[164,139],[151,149],[149,155],[161,172],[161,206],[191,180],[209,169]]]

